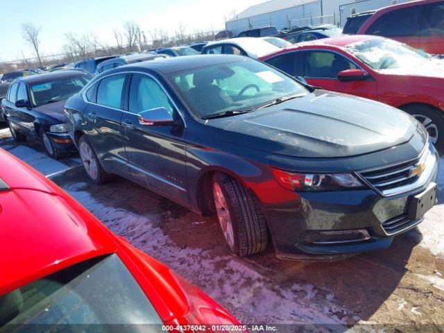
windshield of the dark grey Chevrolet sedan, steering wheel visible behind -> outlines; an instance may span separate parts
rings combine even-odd
[[[247,58],[181,71],[171,80],[197,117],[256,110],[277,99],[309,94],[296,80]]]

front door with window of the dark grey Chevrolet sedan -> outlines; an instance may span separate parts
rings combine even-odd
[[[148,74],[133,74],[128,112],[122,118],[126,155],[133,180],[181,203],[187,203],[185,127],[141,125],[139,112],[166,108],[179,123],[180,115],[168,94]]]

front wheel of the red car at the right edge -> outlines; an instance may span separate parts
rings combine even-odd
[[[416,118],[416,120],[425,126],[438,153],[444,153],[443,111],[428,105],[407,105],[406,107],[402,108],[402,110],[408,114],[411,114]]]

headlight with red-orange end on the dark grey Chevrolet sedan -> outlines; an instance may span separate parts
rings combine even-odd
[[[292,191],[341,191],[361,189],[364,185],[351,173],[294,173],[274,169],[279,184]]]

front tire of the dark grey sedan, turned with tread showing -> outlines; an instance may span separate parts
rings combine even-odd
[[[268,241],[268,230],[259,200],[234,178],[225,173],[215,173],[212,178],[212,191],[216,212],[218,212],[218,199],[215,194],[215,185],[221,189],[231,219],[232,236],[234,236],[232,245],[225,236],[230,251],[234,255],[244,257],[265,250]],[[219,214],[218,218],[219,223],[221,223]]]

